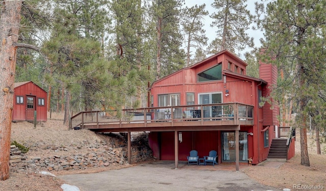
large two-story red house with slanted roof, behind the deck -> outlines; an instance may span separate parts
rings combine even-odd
[[[259,102],[276,84],[277,69],[261,63],[260,78],[255,78],[246,75],[246,66],[247,63],[230,51],[223,50],[155,81],[150,87],[152,107],[189,105],[189,111],[182,111],[182,118],[191,120],[195,118],[196,112],[191,105],[202,104],[204,112],[201,115],[205,118],[221,117],[219,120],[228,120],[228,117],[237,112],[240,116],[238,120],[246,120],[241,118],[243,115],[252,117],[253,122],[239,127],[220,125],[216,128],[193,128],[194,130],[188,126],[178,131],[178,145],[174,142],[175,132],[151,131],[149,145],[154,156],[160,160],[175,160],[175,154],[178,154],[179,160],[187,160],[191,150],[197,150],[199,157],[207,156],[210,150],[216,150],[216,160],[219,163],[248,162],[252,158],[252,163],[257,164],[265,160],[271,141],[278,131],[279,108],[274,105],[271,110],[269,104],[261,106]],[[252,106],[252,111],[241,106],[237,107],[238,111],[229,110],[225,105],[205,106],[216,103],[246,104]],[[158,116],[157,114],[156,119]],[[294,149],[294,146],[290,148]],[[236,161],[236,156],[239,161]]]

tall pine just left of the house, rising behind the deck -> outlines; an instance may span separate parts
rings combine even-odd
[[[128,99],[137,99],[137,102],[141,102],[150,76],[148,75],[148,54],[146,53],[149,47],[145,40],[148,38],[144,23],[145,9],[142,7],[141,0],[115,0],[110,5],[115,18],[115,40],[111,47],[116,49],[116,54],[112,56],[112,59],[117,60],[116,63],[120,64],[121,71],[118,75],[125,75],[131,70],[138,73],[140,79],[135,81],[138,95]]]

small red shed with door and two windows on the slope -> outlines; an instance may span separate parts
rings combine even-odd
[[[14,109],[12,121],[47,120],[46,91],[33,83],[23,81],[14,85]]]

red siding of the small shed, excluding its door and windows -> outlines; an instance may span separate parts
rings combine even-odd
[[[18,83],[17,83],[18,84]],[[20,83],[19,83],[20,84]],[[46,95],[47,93],[32,81],[22,83],[22,85],[15,87],[14,89],[14,109],[12,114],[13,121],[24,121],[26,111],[26,96],[35,96],[35,110],[37,121],[47,120],[46,110]],[[16,96],[23,96],[23,104],[16,103]],[[38,98],[44,99],[44,105],[38,105]]]

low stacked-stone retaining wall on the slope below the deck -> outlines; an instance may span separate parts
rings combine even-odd
[[[14,154],[14,152],[11,152],[11,170],[16,172],[60,171],[106,167],[110,165],[128,165],[126,145],[126,140],[122,136],[111,139],[110,143],[85,144],[78,146],[78,148],[55,145],[43,146],[43,149],[50,149],[55,152],[66,151],[67,153],[66,155],[53,155],[50,157],[30,156],[29,153],[22,154],[17,152],[17,148],[11,148],[17,153]],[[82,147],[87,147],[88,152],[69,154],[69,150],[81,149]],[[37,149],[38,147],[34,145],[31,148]],[[131,162],[137,163],[152,158],[152,151],[148,146],[148,137],[142,135],[133,139],[131,142]]]

